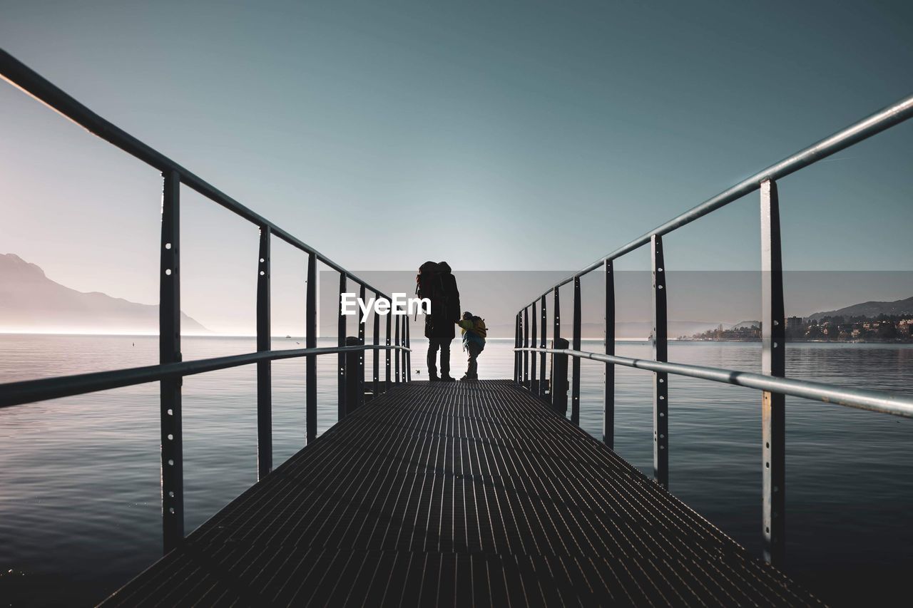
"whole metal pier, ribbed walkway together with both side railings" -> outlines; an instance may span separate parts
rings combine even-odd
[[[511,379],[413,382],[408,318],[347,323],[338,345],[317,348],[317,265],[339,274],[339,293],[387,297],[288,230],[104,120],[0,51],[0,75],[162,174],[160,362],[0,385],[0,407],[159,383],[163,558],[104,605],[733,605],[817,603],[779,567],[785,552],[785,395],[913,417],[907,395],[788,378],[785,369],[777,181],[913,116],[913,97],[772,164],[723,193],[582,268],[519,309]],[[257,231],[257,351],[184,362],[181,351],[181,186]],[[663,236],[749,194],[760,194],[763,372],[698,367],[667,359]],[[273,350],[270,243],[296,248],[306,347]],[[654,356],[614,354],[614,260],[651,247]],[[580,279],[603,273],[604,349],[582,351]],[[561,336],[561,287],[572,336]],[[532,295],[532,294],[530,294]],[[570,302],[570,306],[568,306]],[[550,314],[551,313],[551,314]],[[350,325],[354,325],[350,327]],[[551,327],[551,331],[549,328]],[[365,365],[366,351],[383,352]],[[336,425],[317,434],[317,358],[338,362]],[[281,466],[272,459],[273,361],[304,358],[307,446]],[[604,364],[603,434],[579,427],[580,362]],[[257,366],[257,483],[199,529],[184,530],[182,380]],[[654,476],[616,455],[614,367],[652,374]],[[762,484],[753,556],[671,495],[668,419],[678,374],[759,392]],[[708,415],[711,415],[708,413]]]

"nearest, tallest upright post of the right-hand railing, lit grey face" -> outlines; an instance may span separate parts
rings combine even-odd
[[[761,182],[761,298],[762,372],[782,378],[786,375],[786,341],[780,200],[777,184],[771,180]],[[763,393],[761,435],[764,560],[779,566],[786,537],[786,413],[782,393]]]

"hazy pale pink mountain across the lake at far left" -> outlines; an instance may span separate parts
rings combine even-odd
[[[159,307],[83,293],[45,276],[35,264],[0,254],[0,331],[158,333]],[[207,333],[181,313],[181,331]]]

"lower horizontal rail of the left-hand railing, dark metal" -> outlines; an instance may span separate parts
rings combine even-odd
[[[322,346],[314,349],[289,349],[286,351],[258,351],[227,357],[196,359],[175,363],[131,367],[108,372],[74,373],[53,378],[39,378],[15,383],[0,384],[0,408],[33,404],[48,399],[59,399],[77,394],[95,393],[110,389],[152,383],[160,380],[183,378],[198,373],[215,372],[263,361],[294,359],[308,355],[358,351],[410,351],[405,346],[365,344],[360,346]]]

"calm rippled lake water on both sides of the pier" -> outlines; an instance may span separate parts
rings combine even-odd
[[[184,338],[184,359],[255,346],[253,338]],[[511,377],[511,347],[489,341],[479,375]],[[275,339],[274,348],[301,345]],[[424,341],[414,348],[415,370]],[[619,343],[617,351],[650,357],[646,343]],[[458,341],[451,352],[461,375]],[[913,391],[907,345],[791,344],[787,352],[792,377]],[[157,357],[155,337],[0,335],[0,383]],[[761,347],[677,342],[669,358],[757,372]],[[336,422],[335,360],[319,359],[320,432]],[[304,376],[303,360],[273,363],[276,466],[305,445]],[[602,390],[603,366],[582,362],[581,423],[593,435],[602,425]],[[651,399],[649,373],[618,368],[615,449],[647,475]],[[0,603],[96,603],[159,557],[158,407],[153,383],[0,411]],[[669,410],[671,491],[760,555],[760,394],[670,377]],[[188,531],[256,481],[256,429],[255,366],[184,380]],[[786,446],[786,571],[828,603],[908,605],[913,420],[788,398]]]

